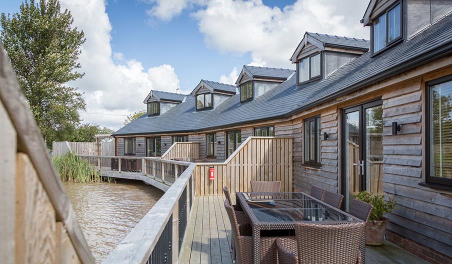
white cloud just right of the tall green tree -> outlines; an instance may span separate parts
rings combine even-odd
[[[144,69],[140,61],[112,52],[111,24],[103,0],[61,0],[61,6],[71,11],[74,25],[86,37],[79,56],[85,75],[70,83],[84,93],[89,112],[81,112],[84,122],[117,129],[125,119],[122,115],[145,109],[142,101],[150,89],[176,90],[179,79],[171,65]]]

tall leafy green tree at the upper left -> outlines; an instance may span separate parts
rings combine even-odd
[[[80,123],[78,110],[85,108],[77,88],[65,85],[83,76],[76,69],[85,38],[72,22],[58,0],[25,0],[19,12],[0,18],[1,41],[49,147],[70,134]]]

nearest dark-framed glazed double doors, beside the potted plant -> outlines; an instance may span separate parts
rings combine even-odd
[[[354,194],[382,194],[383,117],[381,100],[342,112],[342,193],[348,210]]]

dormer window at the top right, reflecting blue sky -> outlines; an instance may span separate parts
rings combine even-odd
[[[372,51],[377,53],[402,37],[402,8],[398,2],[373,20]]]

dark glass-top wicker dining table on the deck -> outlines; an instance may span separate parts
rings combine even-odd
[[[362,221],[304,192],[236,192],[236,199],[251,220],[254,263],[259,263],[260,259],[261,230],[294,229],[295,222]]]

